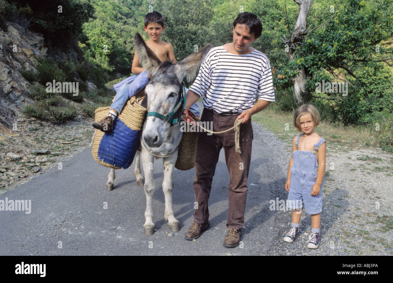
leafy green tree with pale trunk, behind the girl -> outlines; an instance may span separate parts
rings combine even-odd
[[[298,20],[293,31],[288,21],[290,36],[283,38],[289,60],[277,74],[285,77],[282,84],[292,80],[296,102],[307,102],[311,97],[343,102],[345,97],[332,93],[326,97],[312,95],[312,89],[316,82],[332,79],[349,83],[353,90],[370,89],[362,77],[355,75],[356,70],[369,67],[377,71],[383,68],[378,62],[392,66],[393,47],[385,49],[378,45],[393,35],[393,16],[389,14],[392,0],[375,3],[376,8],[368,14],[362,12],[364,1],[349,0],[345,5],[335,2],[325,7],[308,27],[306,18],[312,0],[294,2],[299,5]],[[337,68],[345,71],[348,78],[337,75],[334,72]]]

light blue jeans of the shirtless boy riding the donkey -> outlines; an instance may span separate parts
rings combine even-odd
[[[143,71],[139,75],[128,77],[118,84],[115,84],[113,87],[117,93],[113,103],[110,105],[110,109],[114,109],[120,114],[121,110],[127,103],[127,100],[140,92],[148,82],[149,76],[146,71]],[[186,91],[188,91],[187,88]],[[195,114],[195,116],[200,116],[199,108],[196,103],[190,107],[190,110]]]

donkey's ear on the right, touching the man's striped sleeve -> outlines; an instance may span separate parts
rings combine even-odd
[[[208,55],[210,49],[210,44],[205,45],[200,51],[185,57],[181,62],[176,64],[180,81],[186,77],[187,81],[191,82],[198,72],[200,64],[202,64],[204,58]]]

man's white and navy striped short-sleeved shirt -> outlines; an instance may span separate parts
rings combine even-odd
[[[204,96],[203,106],[218,113],[242,112],[258,99],[275,101],[272,70],[266,55],[254,49],[246,55],[213,47],[200,66],[190,90]]]

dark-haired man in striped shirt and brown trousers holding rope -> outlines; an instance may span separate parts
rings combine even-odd
[[[213,131],[224,131],[236,119],[240,126],[241,153],[235,152],[235,131],[218,135],[198,133],[195,159],[194,192],[198,204],[193,224],[185,239],[192,240],[209,227],[208,199],[221,148],[230,175],[228,186],[228,234],[224,246],[239,245],[244,225],[247,178],[251,161],[253,131],[251,116],[275,101],[272,71],[266,55],[251,47],[262,33],[262,23],[253,14],[244,12],[233,22],[233,42],[210,50],[198,76],[187,92],[184,114],[204,96],[201,121],[213,122]],[[258,101],[255,103],[255,96]]]

